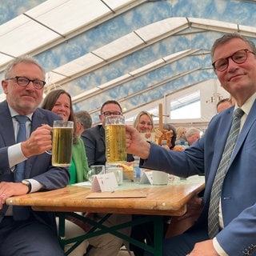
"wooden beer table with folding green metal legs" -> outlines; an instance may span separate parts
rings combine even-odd
[[[103,222],[94,222],[91,219],[82,217],[84,222],[94,226],[93,230],[78,238],[62,241],[62,244],[77,241],[81,243],[86,238],[97,236],[98,234],[111,233],[128,242],[132,242],[143,249],[152,252],[154,255],[162,255],[162,236],[154,236],[154,248],[140,244],[138,241],[119,233],[118,230],[126,226],[134,226],[143,222],[154,221],[154,234],[162,232],[162,217],[166,215],[181,216],[186,213],[186,203],[195,194],[204,189],[204,177],[191,177],[186,180],[176,178],[176,182],[168,186],[140,185],[132,182],[124,182],[122,186],[114,192],[102,192],[96,194],[98,198],[87,198],[93,196],[90,188],[84,186],[66,186],[59,190],[37,192],[8,198],[8,205],[31,206],[33,210],[54,211],[60,214],[62,220],[60,237],[65,237],[65,215],[76,212],[92,212],[106,214],[140,214],[145,215],[145,219],[126,222],[122,225],[106,227]],[[107,197],[107,198],[104,198]],[[96,230],[98,229],[98,230]],[[160,232],[160,233],[158,233]],[[76,239],[76,240],[75,240]],[[65,240],[64,238],[62,240]],[[66,252],[69,254],[70,251]]]

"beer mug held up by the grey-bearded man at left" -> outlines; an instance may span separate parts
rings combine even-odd
[[[74,122],[54,121],[53,146],[51,150],[53,166],[70,166],[72,157]]]

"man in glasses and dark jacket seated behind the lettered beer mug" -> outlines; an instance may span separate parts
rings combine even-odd
[[[106,144],[105,144],[105,118],[110,115],[122,115],[122,108],[117,101],[110,100],[102,104],[99,119],[102,124],[86,129],[81,138],[86,146],[86,155],[89,166],[106,164]],[[94,214],[94,218],[103,218],[105,214]],[[118,225],[131,220],[130,215],[112,214],[110,218],[104,222],[106,226]],[[130,235],[130,228],[121,231],[126,235]],[[87,248],[86,256],[114,256],[118,254],[123,240],[113,234],[102,234],[98,237],[89,238],[89,248]]]

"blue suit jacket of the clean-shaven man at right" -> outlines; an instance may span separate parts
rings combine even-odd
[[[228,136],[234,107],[214,116],[205,135],[185,151],[167,151],[151,144],[144,166],[187,177],[205,174],[204,207],[195,227],[207,230],[210,190]],[[229,255],[256,243],[256,103],[239,134],[234,154],[222,186],[224,229],[217,239]],[[160,152],[161,151],[161,152]]]

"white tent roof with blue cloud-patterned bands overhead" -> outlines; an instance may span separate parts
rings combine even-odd
[[[88,110],[94,122],[102,102],[112,98],[126,109],[127,119],[139,110],[158,115],[158,103],[170,115],[174,95],[216,79],[210,62],[216,38],[239,32],[255,40],[255,1],[29,2],[0,2],[10,15],[5,21],[0,16],[0,78],[13,58],[31,54],[46,67],[46,93],[59,86],[67,90],[74,110]],[[226,97],[214,84],[206,97]],[[211,107],[189,122],[209,121],[216,111]],[[174,121],[170,118],[165,122]]]

